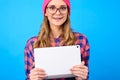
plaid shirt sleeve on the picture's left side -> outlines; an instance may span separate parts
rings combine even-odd
[[[24,49],[24,61],[25,61],[25,73],[26,80],[29,80],[30,70],[34,67],[33,62],[33,42],[31,40],[27,41],[27,44]]]

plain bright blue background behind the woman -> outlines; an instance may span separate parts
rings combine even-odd
[[[38,34],[42,0],[0,0],[0,80],[24,80],[24,47]],[[120,80],[120,1],[71,0],[72,29],[90,42],[90,79]]]

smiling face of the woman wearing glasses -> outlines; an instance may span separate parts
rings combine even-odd
[[[50,26],[62,26],[67,15],[68,8],[63,0],[51,0],[46,7],[45,16],[48,17]]]

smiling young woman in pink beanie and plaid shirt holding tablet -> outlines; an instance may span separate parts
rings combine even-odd
[[[80,45],[82,63],[73,66],[70,70],[74,78],[60,78],[51,80],[87,80],[89,43],[87,38],[70,28],[70,1],[44,0],[44,20],[38,36],[32,37],[25,46],[26,80],[43,80],[44,69],[34,68],[34,48]]]

